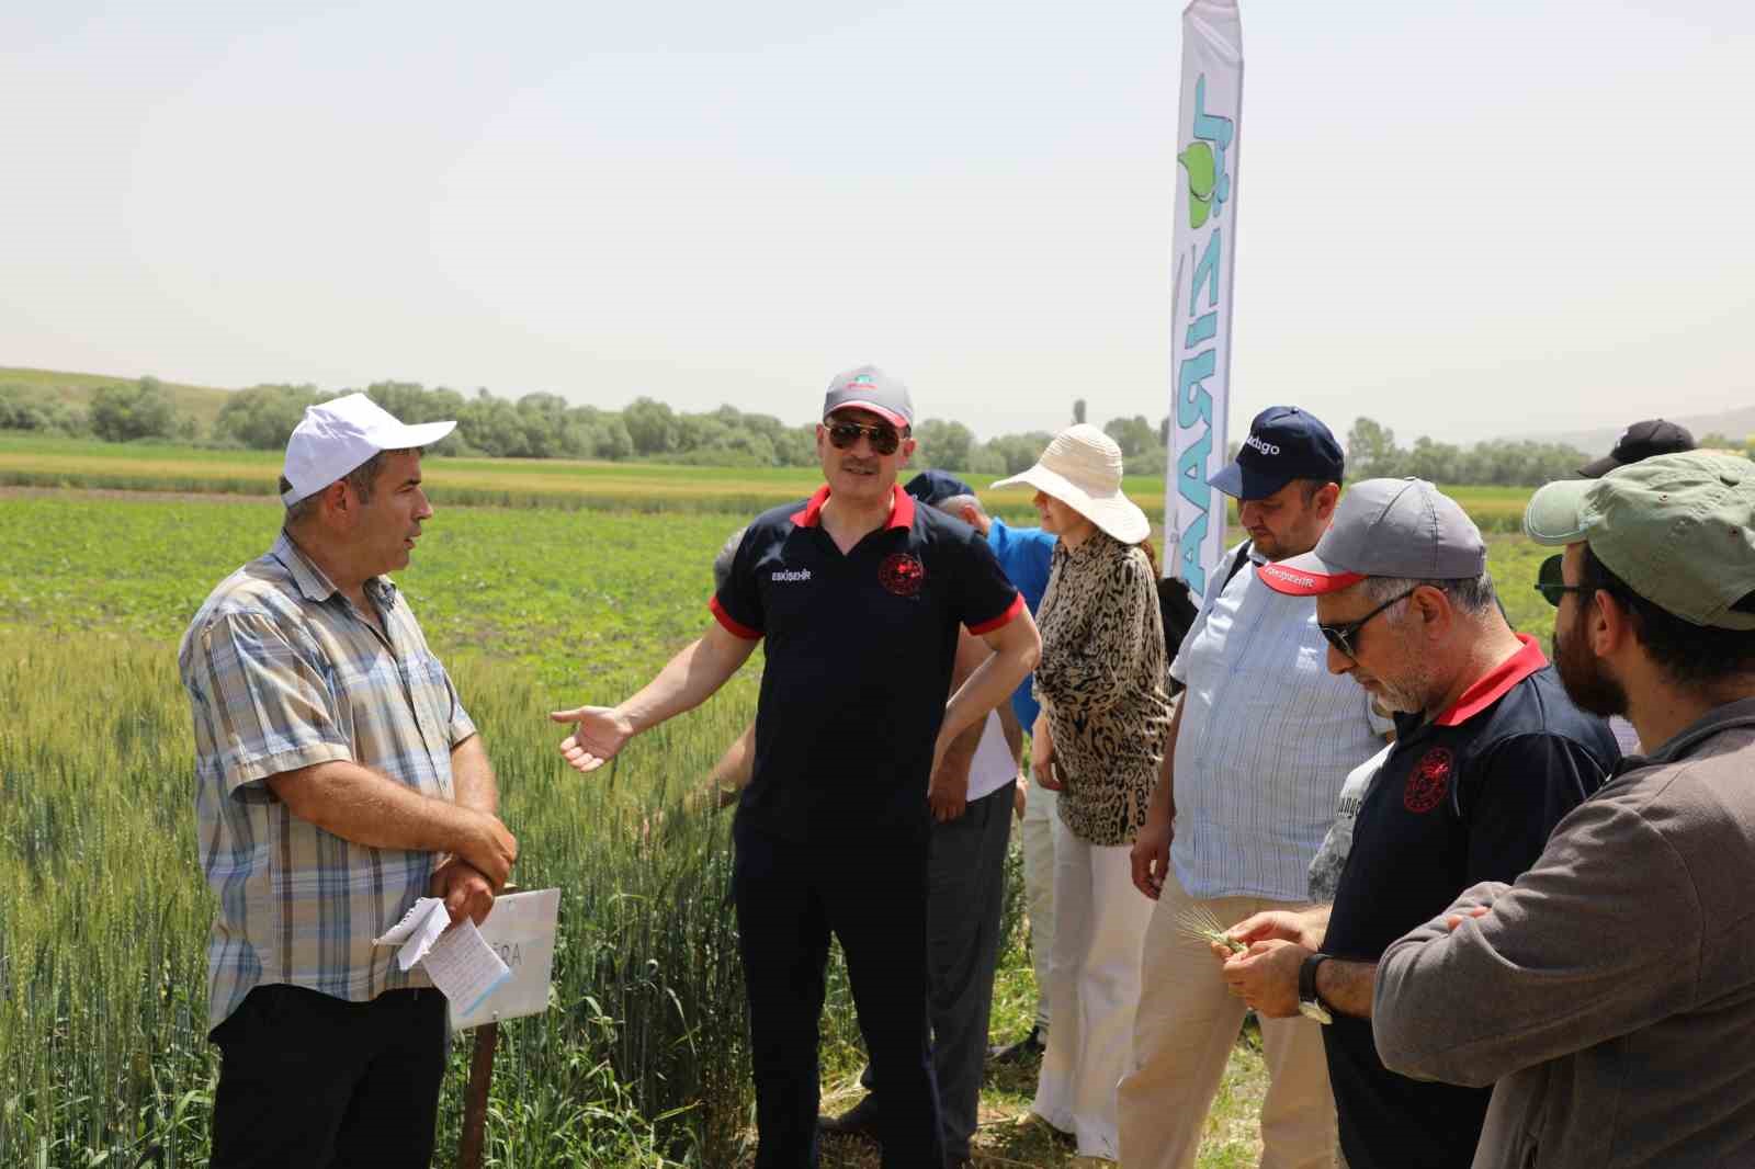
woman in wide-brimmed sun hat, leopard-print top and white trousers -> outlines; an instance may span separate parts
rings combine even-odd
[[[1116,1083],[1134,1036],[1151,902],[1128,848],[1146,821],[1171,727],[1164,627],[1146,514],[1121,493],[1121,448],[1079,423],[1021,476],[1055,532],[1037,611],[1042,660],[1034,771],[1060,792],[1048,1050],[1035,1113],[1085,1157],[1116,1157]]]

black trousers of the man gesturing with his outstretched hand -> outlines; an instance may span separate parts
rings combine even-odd
[[[739,818],[732,895],[749,995],[755,1169],[816,1169],[818,1022],[828,936],[848,960],[860,1034],[883,1081],[885,1169],[941,1169],[927,1043],[927,823],[848,825],[795,843]]]

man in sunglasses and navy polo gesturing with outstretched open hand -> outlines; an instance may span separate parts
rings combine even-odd
[[[816,1165],[830,932],[883,1083],[883,1165],[944,1164],[927,1044],[928,776],[1030,672],[1041,639],[986,541],[897,486],[913,421],[900,381],[839,374],[816,428],[825,486],[749,525],[700,641],[620,706],[553,716],[576,723],[562,755],[593,771],[767,639],[755,774],[732,828],[756,1169]],[[993,655],[946,704],[958,627]]]

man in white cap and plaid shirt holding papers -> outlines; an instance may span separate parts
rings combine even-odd
[[[421,448],[363,393],[286,444],[284,528],[177,651],[195,814],[218,897],[212,1165],[426,1165],[446,1000],[372,939],[418,897],[481,922],[518,843],[444,665],[386,576],[433,509]]]

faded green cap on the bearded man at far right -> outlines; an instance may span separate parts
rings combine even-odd
[[[1687,451],[1536,491],[1523,532],[1590,544],[1615,576],[1694,625],[1755,628],[1755,463]]]

